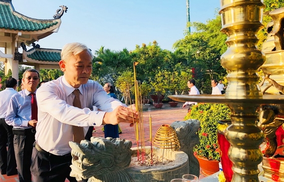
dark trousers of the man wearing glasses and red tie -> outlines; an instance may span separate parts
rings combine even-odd
[[[32,182],[30,168],[35,134],[31,132],[31,129],[27,130],[25,135],[16,135],[14,133],[14,149],[20,182]]]

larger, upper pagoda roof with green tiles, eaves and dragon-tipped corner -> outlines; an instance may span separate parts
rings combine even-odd
[[[36,19],[17,12],[12,0],[0,0],[0,32],[17,33],[19,42],[30,45],[58,31],[60,18],[67,11],[66,6],[60,7],[62,9],[56,10],[54,19]]]

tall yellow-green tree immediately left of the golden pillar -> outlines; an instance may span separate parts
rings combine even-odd
[[[195,68],[194,79],[204,87],[210,79],[224,77],[227,73],[221,66],[220,56],[225,52],[226,35],[220,32],[221,17],[216,15],[206,23],[192,22],[191,27],[195,32],[187,32],[183,39],[176,41],[173,45],[187,56],[187,64]],[[209,86],[210,84],[208,84]]]

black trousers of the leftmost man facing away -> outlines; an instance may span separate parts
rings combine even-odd
[[[7,125],[4,118],[0,119],[0,170],[2,175],[8,176],[18,174],[12,129],[13,126]]]

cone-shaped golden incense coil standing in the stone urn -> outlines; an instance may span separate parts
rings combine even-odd
[[[156,132],[153,140],[153,145],[160,149],[174,149],[180,148],[177,135],[170,125],[162,125]]]

